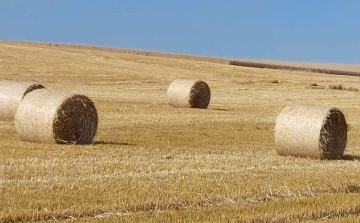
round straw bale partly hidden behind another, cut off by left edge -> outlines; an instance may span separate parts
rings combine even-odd
[[[13,120],[24,96],[44,86],[35,82],[0,82],[0,120]]]

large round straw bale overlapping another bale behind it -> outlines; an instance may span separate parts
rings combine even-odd
[[[97,125],[97,111],[88,97],[47,89],[27,94],[15,115],[21,140],[30,142],[90,144]]]

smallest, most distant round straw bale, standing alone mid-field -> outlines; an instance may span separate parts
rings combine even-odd
[[[178,108],[207,108],[211,92],[204,81],[176,79],[167,92],[168,103]]]

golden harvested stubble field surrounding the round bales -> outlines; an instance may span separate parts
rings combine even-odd
[[[167,103],[177,78],[208,109]],[[360,216],[360,77],[55,44],[0,43],[0,81],[86,95],[92,145],[20,140],[0,121],[0,222],[353,222]],[[288,104],[340,109],[341,160],[279,156]]]

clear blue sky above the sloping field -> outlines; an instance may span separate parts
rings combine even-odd
[[[360,63],[360,1],[0,0],[0,39]]]

